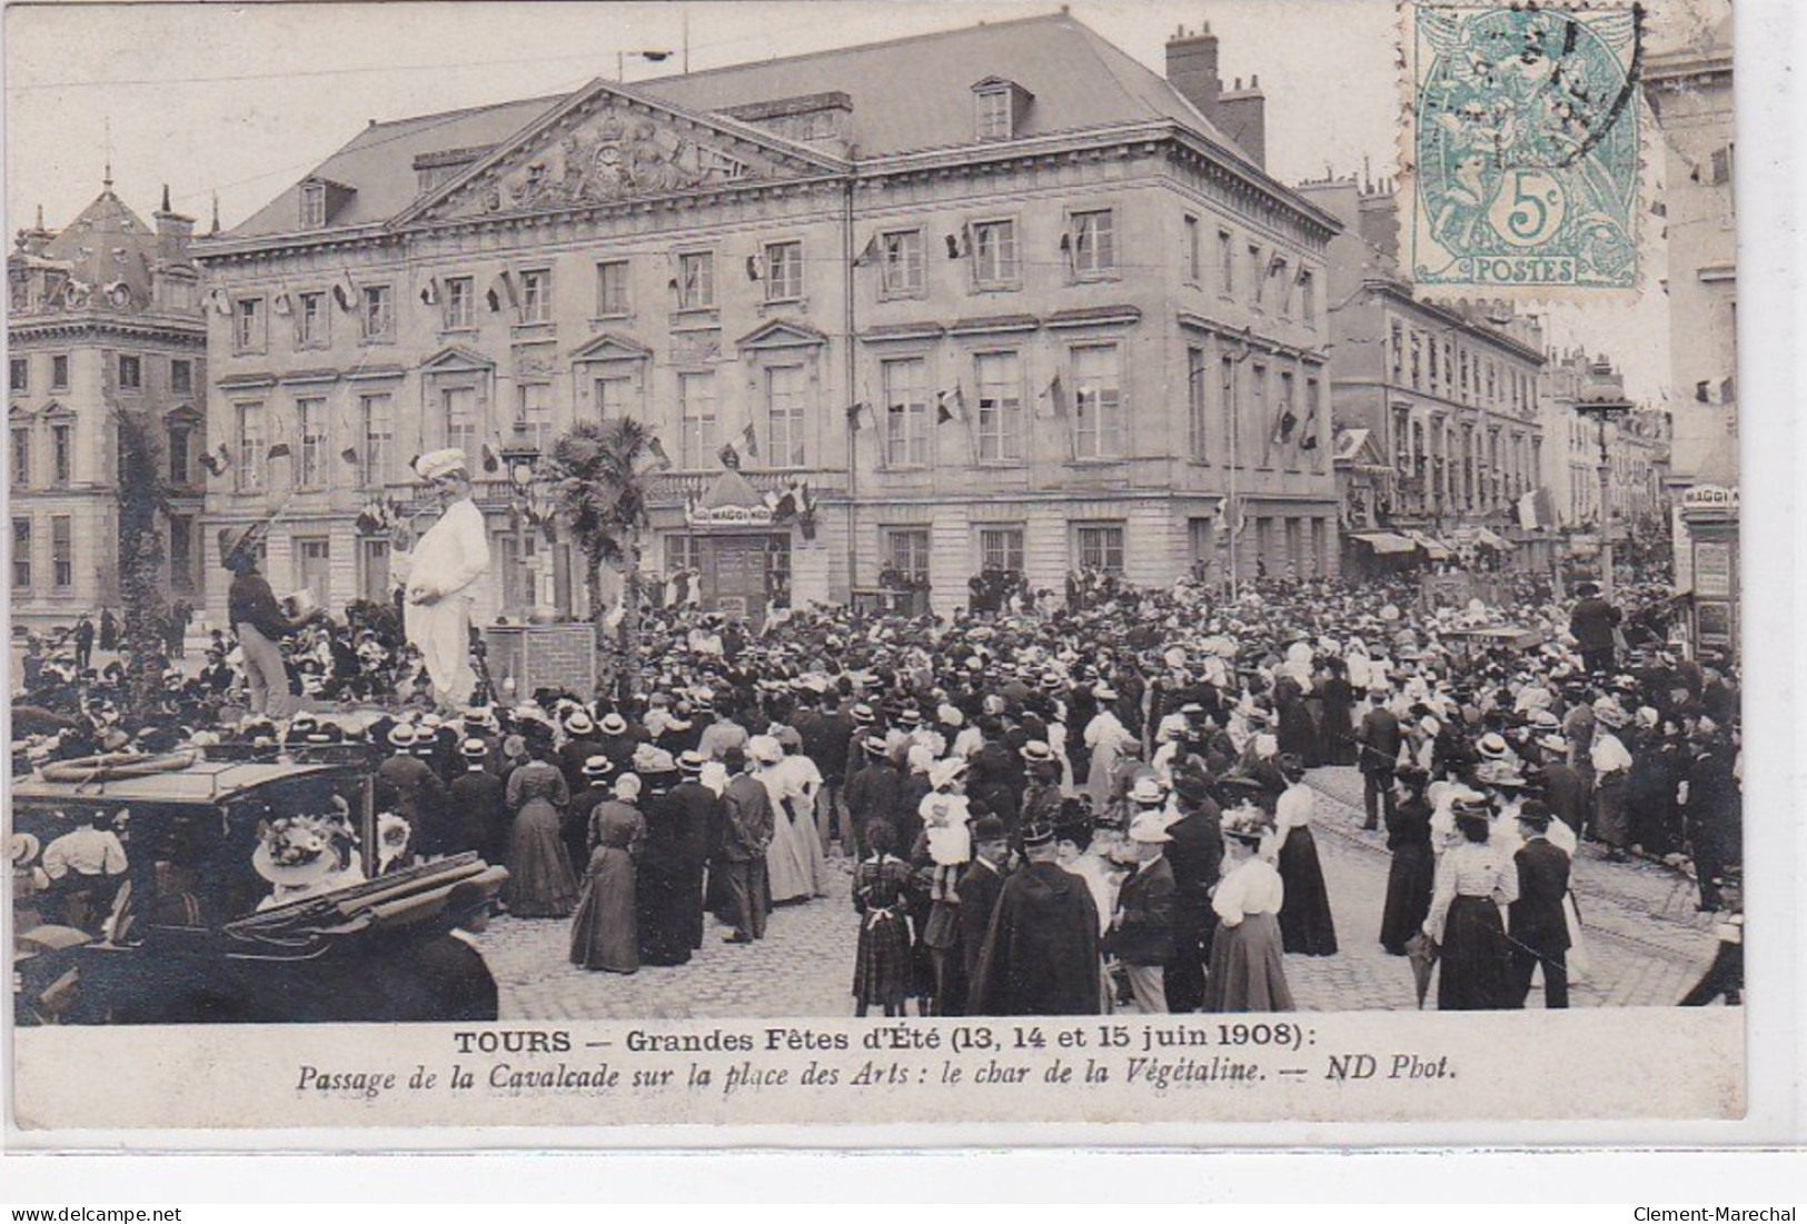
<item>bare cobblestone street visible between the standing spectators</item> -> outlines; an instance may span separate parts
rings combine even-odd
[[[1341,951],[1287,957],[1301,1009],[1411,1009],[1411,968],[1379,944],[1386,894],[1384,834],[1361,830],[1361,778],[1319,769],[1314,830]],[[1711,919],[1695,912],[1691,881],[1650,863],[1606,863],[1583,847],[1576,894],[1590,959],[1570,991],[1576,1007],[1673,1006],[1713,957]],[[703,950],[687,966],[634,975],[595,973],[566,959],[569,924],[501,917],[482,941],[502,989],[502,1016],[712,1018],[851,1015],[857,921],[849,865],[829,863],[829,895],[773,912],[766,939],[721,942],[708,919]],[[1435,1000],[1435,986],[1433,995]],[[1529,1006],[1541,1006],[1534,988]]]

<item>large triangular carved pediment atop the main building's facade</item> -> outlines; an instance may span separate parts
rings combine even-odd
[[[598,79],[423,195],[392,224],[595,208],[840,168],[761,128],[692,114]]]

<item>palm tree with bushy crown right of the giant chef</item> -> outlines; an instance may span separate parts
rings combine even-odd
[[[553,442],[546,480],[558,502],[560,516],[584,552],[584,587],[598,641],[605,641],[607,607],[602,599],[602,567],[622,572],[618,650],[620,695],[632,691],[640,635],[640,536],[649,525],[645,457],[658,455],[658,442],[645,424],[632,417],[595,422],[580,421]]]

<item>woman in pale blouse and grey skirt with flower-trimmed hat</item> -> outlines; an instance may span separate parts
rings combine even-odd
[[[1223,879],[1211,895],[1218,930],[1211,937],[1205,1011],[1292,1011],[1292,989],[1279,950],[1279,913],[1287,886],[1261,858],[1267,814],[1243,805],[1223,816]]]

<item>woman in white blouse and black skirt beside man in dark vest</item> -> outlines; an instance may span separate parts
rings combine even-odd
[[[1487,845],[1485,802],[1456,800],[1462,841],[1437,859],[1437,886],[1424,933],[1442,950],[1438,1011],[1489,1011],[1512,1006],[1505,923],[1500,906],[1518,899],[1518,865]]]

